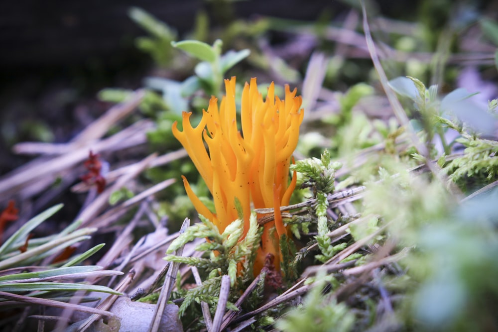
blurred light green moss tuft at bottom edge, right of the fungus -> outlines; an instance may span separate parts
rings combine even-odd
[[[319,282],[305,297],[302,305],[287,312],[276,321],[277,329],[285,332],[352,331],[355,315],[331,295],[323,295]]]

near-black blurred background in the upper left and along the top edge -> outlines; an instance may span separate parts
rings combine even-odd
[[[492,0],[478,1],[481,7]],[[199,11],[211,28],[236,18],[273,16],[314,21],[345,15],[356,0],[3,0],[0,1],[0,174],[28,158],[13,156],[26,140],[66,142],[109,108],[95,94],[136,89],[152,59],[134,41],[146,35],[128,16],[138,6],[176,29],[191,31]],[[415,21],[424,5],[444,24],[452,0],[372,1],[375,15]],[[437,20],[439,21],[439,19]],[[24,158],[24,159],[23,159]]]

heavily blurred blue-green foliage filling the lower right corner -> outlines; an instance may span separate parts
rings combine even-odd
[[[497,198],[480,195],[418,230],[418,250],[404,262],[421,282],[406,301],[417,330],[485,331],[496,319]]]

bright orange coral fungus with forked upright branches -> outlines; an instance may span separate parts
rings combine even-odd
[[[203,110],[202,119],[195,128],[190,123],[191,113],[183,112],[183,131],[177,129],[175,122],[173,134],[185,147],[211,191],[216,214],[201,203],[183,177],[187,195],[197,212],[217,225],[220,231],[238,218],[236,201],[240,202],[244,215],[244,234],[249,229],[251,207],[275,208],[275,221],[264,225],[262,246],[254,264],[257,273],[268,253],[274,255],[275,266],[279,266],[278,239],[287,232],[279,207],[288,205],[295,188],[295,172],[289,183],[289,164],[304,112],[299,109],[302,99],[296,97],[296,89],[291,92],[286,85],[285,99],[280,100],[271,83],[263,101],[256,79],[252,78],[242,92],[241,134],[237,128],[235,83],[235,77],[225,80],[227,94],[220,106],[218,100],[211,97],[208,110]]]

